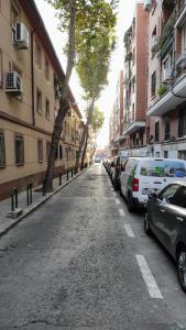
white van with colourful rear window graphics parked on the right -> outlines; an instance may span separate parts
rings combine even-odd
[[[158,193],[176,179],[186,182],[186,162],[176,158],[130,157],[121,168],[121,194],[128,209],[144,207],[147,193]]]

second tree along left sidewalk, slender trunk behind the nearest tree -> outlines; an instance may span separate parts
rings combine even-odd
[[[84,89],[85,99],[88,101],[87,122],[81,136],[76,168],[79,167],[80,156],[84,167],[84,158],[86,154],[88,140],[88,125],[94,113],[95,102],[99,98],[101,90],[107,85],[107,75],[109,72],[110,56],[116,45],[114,36],[114,14],[109,12],[110,23],[107,26],[100,26],[96,35],[90,41],[88,47],[80,45],[79,56],[77,61],[77,73]]]

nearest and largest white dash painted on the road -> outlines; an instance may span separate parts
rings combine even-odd
[[[151,273],[151,270],[150,270],[144,256],[135,255],[135,257],[136,257],[136,262],[140,267],[140,271],[142,273],[142,277],[143,277],[146,288],[149,290],[150,297],[163,299],[160,288],[155,282],[153,274]]]

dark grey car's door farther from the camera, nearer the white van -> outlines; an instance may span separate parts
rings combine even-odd
[[[178,190],[178,184],[171,184],[165,187],[158,195],[157,198],[151,204],[151,217],[152,224],[155,235],[162,242],[163,245],[168,248],[168,229],[167,220],[173,210],[171,210],[169,201],[175,197]]]

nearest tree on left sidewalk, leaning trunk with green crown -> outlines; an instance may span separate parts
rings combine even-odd
[[[91,48],[91,41],[99,35],[100,30],[116,23],[113,9],[117,0],[46,0],[56,9],[59,29],[67,33],[66,45],[67,67],[64,81],[61,81],[59,109],[54,123],[47,170],[44,179],[44,190],[52,189],[55,153],[61,139],[63,121],[70,108],[68,82],[75,66],[75,59],[85,56]],[[89,65],[91,67],[91,64]]]

